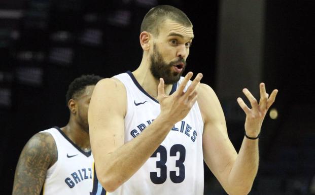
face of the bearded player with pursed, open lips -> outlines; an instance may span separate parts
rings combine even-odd
[[[171,20],[163,22],[150,56],[150,70],[157,80],[162,77],[167,85],[180,80],[193,36],[192,27]]]

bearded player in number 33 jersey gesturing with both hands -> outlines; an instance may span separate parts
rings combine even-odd
[[[228,194],[251,190],[261,125],[277,90],[268,97],[261,83],[257,102],[243,89],[252,108],[237,98],[246,113],[237,153],[215,92],[200,83],[202,74],[193,81],[192,72],[181,77],[193,38],[192,23],[182,11],[157,6],[141,25],[139,67],[95,86],[90,138],[97,178],[107,194],[201,195],[203,160]]]

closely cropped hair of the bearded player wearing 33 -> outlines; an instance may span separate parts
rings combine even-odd
[[[162,5],[152,8],[146,14],[142,20],[140,30],[141,32],[147,31],[154,34],[155,36],[158,36],[161,24],[166,19],[178,22],[187,27],[193,26],[187,15],[182,10],[172,6]]]

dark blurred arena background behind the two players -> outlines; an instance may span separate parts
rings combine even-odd
[[[236,98],[278,89],[260,138],[250,194],[314,194],[315,1],[0,1],[0,194],[12,192],[19,153],[35,133],[68,121],[65,93],[82,74],[111,77],[141,62],[145,13],[168,4],[194,24],[186,71],[202,72],[221,101],[238,150],[244,114]],[[211,108],[209,108],[211,109]],[[204,194],[226,194],[205,168]],[[315,188],[315,181],[314,181]],[[315,190],[314,190],[315,191]]]

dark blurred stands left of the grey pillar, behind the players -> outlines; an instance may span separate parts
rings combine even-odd
[[[184,10],[198,35],[196,48],[208,46],[191,52],[188,69],[201,71],[202,66],[197,66],[202,64],[201,54],[208,56],[213,70],[217,1],[208,8],[177,0],[0,1],[0,122],[4,127],[0,172],[7,177],[0,194],[12,191],[26,141],[41,130],[66,125],[65,93],[75,77],[91,73],[111,77],[138,66],[142,18],[160,4]],[[201,29],[209,36],[206,40]],[[214,80],[213,72],[204,82]]]

